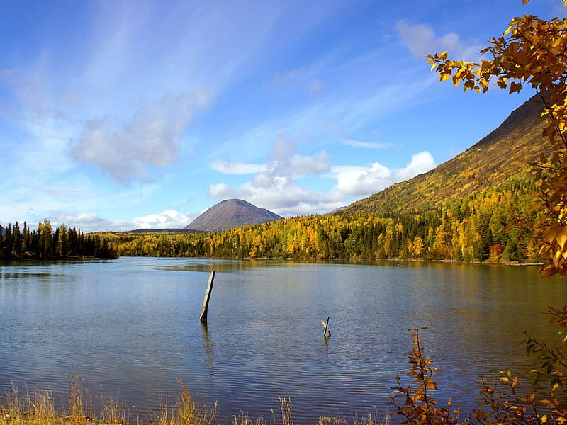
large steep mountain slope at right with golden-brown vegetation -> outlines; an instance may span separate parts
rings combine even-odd
[[[549,153],[541,135],[542,110],[542,103],[534,96],[465,152],[432,171],[358,200],[339,213],[371,212],[385,216],[422,212],[474,193],[527,181],[539,155]]]

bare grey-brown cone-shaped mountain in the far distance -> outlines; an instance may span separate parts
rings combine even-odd
[[[245,225],[254,225],[281,217],[264,208],[258,208],[242,199],[228,199],[213,205],[199,215],[185,229],[216,232]]]

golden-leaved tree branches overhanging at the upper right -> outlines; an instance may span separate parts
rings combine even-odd
[[[526,4],[529,0],[523,0]],[[567,6],[567,0],[563,0]],[[499,38],[481,50],[480,64],[449,59],[447,52],[427,55],[440,81],[478,93],[494,84],[512,93],[534,89],[544,105],[543,135],[549,143],[534,172],[544,214],[534,237],[544,256],[544,276],[567,273],[567,19],[532,15],[513,18]]]

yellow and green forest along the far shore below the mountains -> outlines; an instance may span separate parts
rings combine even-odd
[[[495,188],[444,208],[378,217],[293,217],[199,234],[101,234],[120,256],[234,259],[430,259],[533,262],[533,181]]]

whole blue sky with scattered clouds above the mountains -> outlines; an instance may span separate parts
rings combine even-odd
[[[220,200],[330,212],[534,93],[439,83],[561,0],[0,0],[0,225],[185,227]],[[505,154],[505,153],[503,153]]]

